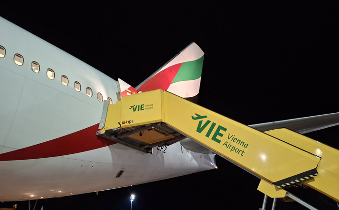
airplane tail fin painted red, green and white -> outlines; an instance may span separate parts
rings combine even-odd
[[[167,90],[189,101],[197,102],[204,52],[192,42],[173,59],[144,80],[136,92]],[[119,81],[120,82],[120,81]],[[122,82],[121,82],[122,83]],[[126,86],[129,86],[126,83]],[[121,87],[120,87],[121,88]],[[130,89],[126,87],[126,89]],[[123,93],[124,90],[121,90]],[[127,95],[121,94],[121,96]]]

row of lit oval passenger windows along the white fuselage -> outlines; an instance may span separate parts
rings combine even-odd
[[[6,49],[3,46],[0,45],[0,58],[5,57],[5,55],[6,55]],[[14,55],[14,62],[15,62],[16,65],[22,66],[22,64],[24,64],[24,58],[20,54],[15,54]],[[39,63],[36,62],[36,61],[32,61],[31,62],[31,69],[32,69],[33,72],[39,73],[40,72],[40,65],[39,65]],[[49,79],[54,79],[54,77],[55,77],[54,71],[52,69],[47,69],[46,74],[47,74],[47,77]],[[64,86],[68,86],[68,78],[67,78],[67,76],[65,76],[65,75],[61,76],[61,83]],[[77,81],[74,82],[74,89],[76,91],[80,92],[81,85],[80,85],[79,82],[77,82]],[[88,97],[92,97],[92,89],[87,87],[86,88],[86,94],[88,95]],[[98,98],[99,102],[103,101],[103,96],[102,96],[102,94],[100,92],[97,93],[97,98]],[[108,101],[109,104],[113,103],[112,99],[109,98],[109,97],[107,98],[107,101]]]

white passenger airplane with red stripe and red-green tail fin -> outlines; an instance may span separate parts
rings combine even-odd
[[[133,88],[3,18],[0,26],[0,87],[9,90],[0,93],[0,201],[77,195],[216,168],[215,154],[190,139],[151,155],[95,135],[105,100],[115,104],[162,89],[195,102],[204,56],[195,43]],[[192,64],[197,72],[181,72]],[[338,124],[335,113],[251,127],[304,134]]]

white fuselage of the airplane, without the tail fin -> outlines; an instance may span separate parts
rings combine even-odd
[[[121,144],[91,149],[88,145],[99,141],[92,130],[73,141],[76,132],[100,122],[98,92],[113,104],[118,100],[116,81],[3,18],[0,28],[0,46],[6,50],[0,58],[0,201],[82,194],[215,168],[213,155],[185,150],[180,143],[152,155]],[[23,65],[14,62],[15,54],[23,57]],[[38,73],[32,71],[32,61],[39,63]],[[54,71],[54,79],[47,77],[47,69]],[[56,148],[47,144],[42,158],[25,152],[50,141],[61,143]],[[115,178],[121,170],[123,175]]]

